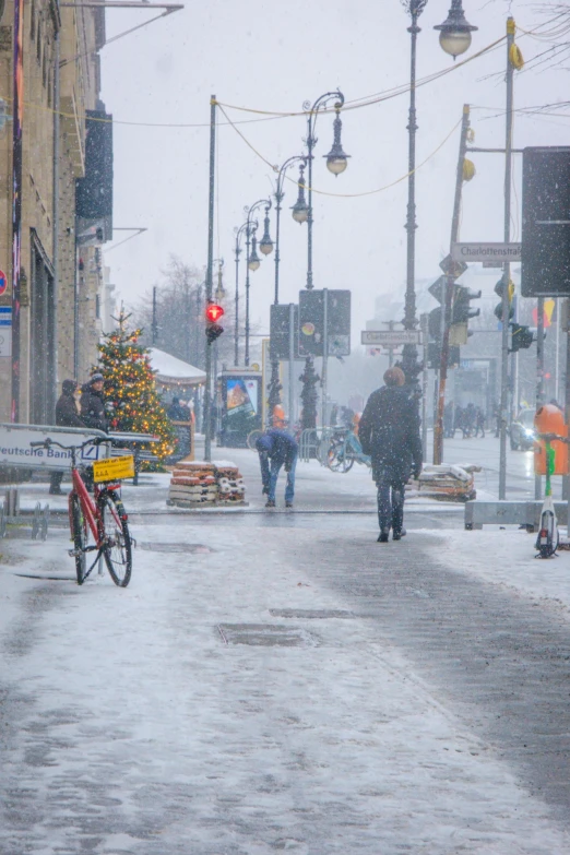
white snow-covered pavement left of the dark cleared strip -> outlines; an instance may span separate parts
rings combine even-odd
[[[135,525],[126,591],[74,585],[63,533],[1,545],[0,853],[570,852],[403,653],[307,572],[316,544],[325,571],[326,534],[257,519]],[[480,543],[456,537],[451,556]]]

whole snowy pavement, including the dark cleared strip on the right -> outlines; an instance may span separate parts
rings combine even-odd
[[[568,554],[426,502],[377,544],[364,468],[265,512],[247,454],[245,512],[124,488],[127,590],[1,543],[0,853],[570,852]]]

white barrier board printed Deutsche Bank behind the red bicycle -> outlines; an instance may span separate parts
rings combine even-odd
[[[23,466],[31,470],[69,470],[71,451],[52,446],[32,448],[32,442],[52,439],[62,446],[80,446],[90,437],[105,437],[100,430],[58,428],[47,425],[0,424],[0,466]],[[110,456],[110,443],[85,446],[76,456],[83,465]]]

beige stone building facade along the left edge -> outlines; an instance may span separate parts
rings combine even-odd
[[[8,0],[0,20],[1,421],[52,424],[61,381],[83,380],[96,360],[111,221],[81,217],[78,198],[98,179],[90,117],[105,116],[110,133],[99,100],[104,15]]]

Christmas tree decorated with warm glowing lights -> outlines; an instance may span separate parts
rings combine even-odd
[[[156,392],[150,351],[138,343],[141,330],[129,331],[130,317],[121,306],[115,318],[119,328],[99,344],[98,369],[105,378],[105,403],[111,409],[110,429],[159,437],[152,451],[163,460],[173,452],[174,429]]]

